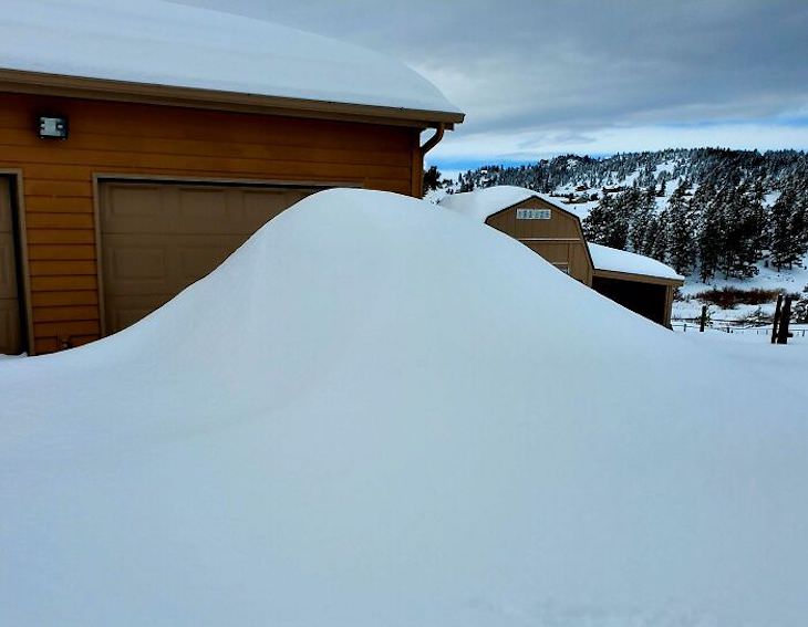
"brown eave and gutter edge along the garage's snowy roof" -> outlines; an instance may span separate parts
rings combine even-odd
[[[0,69],[0,91],[138,104],[453,129],[464,113],[265,96]]]

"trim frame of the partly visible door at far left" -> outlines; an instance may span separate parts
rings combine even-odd
[[[31,305],[31,268],[28,259],[28,230],[25,228],[25,195],[23,192],[22,170],[0,168],[0,177],[9,181],[9,202],[11,203],[11,230],[14,238],[14,264],[17,273],[17,297],[20,309],[20,332],[22,351],[33,356],[33,309]]]

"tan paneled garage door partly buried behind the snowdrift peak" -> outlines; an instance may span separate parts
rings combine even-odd
[[[100,188],[106,333],[209,274],[313,188],[105,181]]]

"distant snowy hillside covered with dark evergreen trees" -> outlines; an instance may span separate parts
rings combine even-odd
[[[800,150],[671,148],[604,158],[562,155],[490,165],[433,195],[518,185],[558,196],[590,241],[654,257],[704,282],[745,279],[808,253],[808,155]]]

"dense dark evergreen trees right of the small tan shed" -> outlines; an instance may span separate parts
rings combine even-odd
[[[588,240],[652,257],[680,274],[748,278],[766,259],[779,271],[808,253],[808,184],[795,177],[767,207],[760,181],[685,180],[663,210],[655,188],[604,194],[583,220]]]

